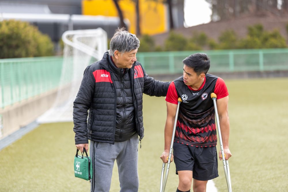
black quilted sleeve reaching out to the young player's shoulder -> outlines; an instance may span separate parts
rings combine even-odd
[[[146,74],[144,69],[143,73],[144,73],[143,93],[149,96],[157,96],[157,97],[166,96],[171,81],[164,82],[155,80],[153,77],[149,77],[149,75]]]

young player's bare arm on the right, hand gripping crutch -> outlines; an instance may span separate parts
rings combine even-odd
[[[228,160],[232,154],[229,150],[229,132],[230,132],[230,124],[228,117],[228,96],[223,97],[221,99],[216,100],[217,110],[219,115],[219,124],[222,136],[222,143],[224,153],[226,154],[226,160]],[[219,151],[219,159],[222,160],[221,150]]]

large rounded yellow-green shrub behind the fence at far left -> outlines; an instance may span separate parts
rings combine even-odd
[[[54,45],[47,35],[27,22],[0,22],[0,58],[49,56]]]

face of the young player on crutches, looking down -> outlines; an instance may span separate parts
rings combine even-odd
[[[193,68],[188,67],[187,65],[184,64],[183,79],[184,79],[185,85],[193,86],[193,85],[198,85],[199,83],[202,84],[203,82],[202,80],[204,77],[205,77],[204,73],[197,75],[197,73],[195,73]]]

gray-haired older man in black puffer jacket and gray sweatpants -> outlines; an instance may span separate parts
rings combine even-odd
[[[110,50],[84,71],[74,101],[75,145],[82,152],[84,147],[88,150],[91,140],[91,191],[109,191],[115,160],[120,191],[138,191],[138,143],[144,136],[143,93],[166,96],[170,84],[145,73],[136,58],[139,43],[128,31],[116,30]]]

